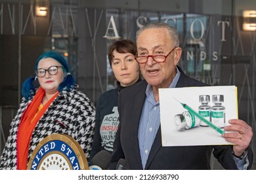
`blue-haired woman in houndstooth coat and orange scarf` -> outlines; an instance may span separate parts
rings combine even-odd
[[[53,51],[41,54],[35,62],[35,77],[24,82],[22,95],[0,169],[27,169],[35,146],[54,133],[73,137],[89,158],[95,106],[78,90],[66,59]]]

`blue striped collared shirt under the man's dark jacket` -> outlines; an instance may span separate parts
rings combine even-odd
[[[175,88],[181,72],[179,69],[173,82],[171,82],[169,88]],[[148,84],[146,87],[146,101],[142,108],[142,115],[140,116],[139,124],[139,147],[140,147],[140,158],[142,160],[142,167],[145,169],[146,161],[148,159],[148,154],[150,153],[151,146],[158,133],[160,127],[160,104],[159,101],[156,102],[154,98],[154,93],[152,87]]]

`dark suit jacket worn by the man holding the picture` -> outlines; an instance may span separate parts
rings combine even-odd
[[[178,67],[179,68],[179,67]],[[206,86],[182,72],[177,88]],[[115,169],[120,158],[126,160],[126,169],[142,169],[138,129],[140,114],[146,97],[146,80],[125,88],[119,95],[119,129],[114,143],[110,169]],[[161,126],[160,126],[161,127]],[[210,169],[211,152],[224,169],[237,169],[232,157],[232,146],[161,146],[161,128],[158,129],[145,169]],[[248,149],[251,168],[253,154]]]

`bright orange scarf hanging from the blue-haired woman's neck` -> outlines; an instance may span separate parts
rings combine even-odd
[[[28,105],[28,108],[24,111],[20,126],[18,128],[18,139],[17,139],[17,153],[18,153],[18,170],[26,170],[28,163],[28,148],[30,146],[30,139],[32,136],[33,129],[35,125],[43,116],[49,105],[53,102],[55,97],[58,95],[58,92],[49,100],[47,103],[39,110],[39,106],[45,97],[45,90],[39,88],[33,97],[32,103]],[[37,110],[39,110],[37,112]]]

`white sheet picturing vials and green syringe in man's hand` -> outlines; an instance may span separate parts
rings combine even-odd
[[[236,86],[161,88],[162,146],[231,144],[221,135],[238,119]]]

